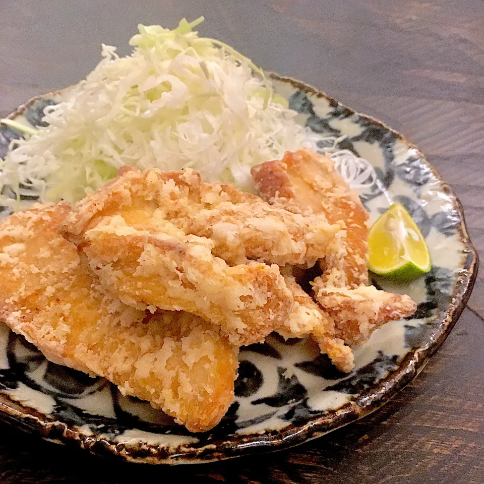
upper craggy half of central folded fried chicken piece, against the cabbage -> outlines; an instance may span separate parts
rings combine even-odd
[[[341,228],[322,214],[294,214],[231,185],[204,183],[191,169],[148,169],[124,170],[79,202],[65,235],[79,245],[86,230],[113,215],[152,234],[206,237],[213,244],[212,254],[229,265],[254,259],[311,266],[328,252]]]

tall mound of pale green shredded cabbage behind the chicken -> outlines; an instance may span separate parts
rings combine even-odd
[[[123,165],[192,167],[253,191],[251,166],[317,149],[320,135],[295,123],[250,59],[193,31],[202,20],[140,25],[127,57],[103,45],[97,67],[45,109],[48,126],[16,141],[0,164],[2,203],[25,188],[41,201],[75,202]]]

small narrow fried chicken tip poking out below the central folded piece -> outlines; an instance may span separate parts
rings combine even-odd
[[[338,370],[350,372],[354,367],[353,351],[342,339],[335,337],[333,319],[319,308],[292,276],[285,275],[284,279],[294,296],[294,306],[277,332],[284,338],[301,338],[311,334],[321,353],[327,354]]]

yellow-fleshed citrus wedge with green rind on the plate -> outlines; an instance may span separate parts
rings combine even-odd
[[[429,249],[405,207],[395,203],[372,225],[368,268],[395,282],[410,282],[432,267]]]

